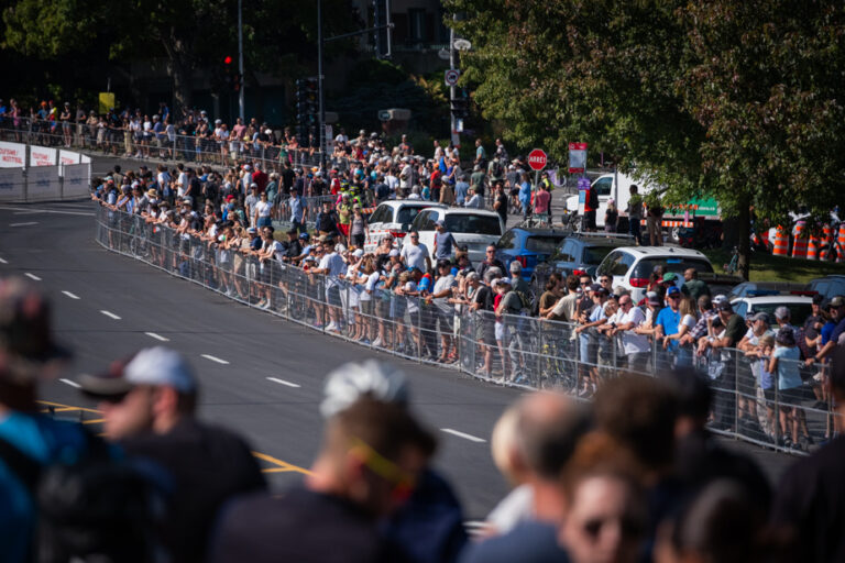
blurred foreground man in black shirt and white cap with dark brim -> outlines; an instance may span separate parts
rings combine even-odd
[[[249,445],[196,419],[197,379],[174,350],[144,349],[107,374],[81,376],[79,385],[100,399],[109,440],[169,474],[174,490],[162,536],[173,561],[205,561],[208,536],[223,503],[265,488]]]

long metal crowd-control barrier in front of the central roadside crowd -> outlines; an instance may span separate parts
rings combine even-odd
[[[803,362],[779,361],[803,382],[780,389],[778,374],[765,373],[767,361],[738,350],[700,356],[692,349],[649,344],[626,352],[621,336],[605,338],[579,331],[577,324],[527,316],[496,317],[400,290],[371,294],[360,277],[329,278],[274,260],[261,262],[244,252],[243,242],[226,247],[106,206],[98,209],[97,242],[312,330],[485,382],[561,390],[589,400],[614,377],[690,367],[711,379],[714,432],[801,454],[842,426],[825,391],[826,368],[805,367]]]

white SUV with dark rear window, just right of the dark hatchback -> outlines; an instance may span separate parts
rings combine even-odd
[[[605,256],[596,269],[597,275],[613,276],[613,287],[622,286],[630,291],[634,302],[646,296],[648,277],[655,266],[678,274],[683,280],[687,268],[698,272],[713,272],[707,257],[692,249],[680,246],[621,246]]]

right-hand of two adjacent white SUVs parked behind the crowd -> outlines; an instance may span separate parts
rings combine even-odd
[[[424,209],[417,213],[410,230],[419,232],[419,242],[428,247],[432,258],[437,232],[435,223],[440,220],[458,245],[467,247],[472,263],[484,260],[487,246],[496,244],[505,232],[505,223],[495,211],[446,207]]]

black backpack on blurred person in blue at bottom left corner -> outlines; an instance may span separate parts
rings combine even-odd
[[[139,466],[112,459],[106,442],[86,437],[88,454],[72,465],[42,465],[0,438],[0,459],[30,490],[37,514],[30,561],[163,561],[155,532],[162,488]]]

